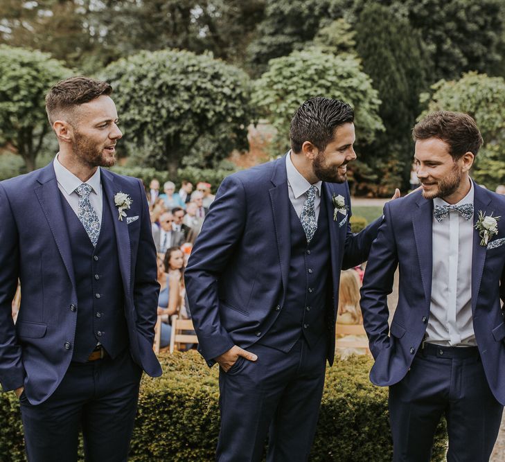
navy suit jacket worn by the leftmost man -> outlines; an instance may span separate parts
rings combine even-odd
[[[161,368],[152,350],[159,285],[148,202],[138,179],[101,169],[103,200],[132,198],[127,223],[114,217],[125,317],[134,361],[152,376]],[[51,396],[72,359],[76,284],[67,226],[53,163],[0,182],[0,382],[4,391],[25,387],[36,405]],[[21,307],[11,302],[21,281]],[[90,294],[91,296],[91,294]]]

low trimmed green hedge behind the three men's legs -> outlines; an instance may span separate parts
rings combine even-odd
[[[143,377],[130,461],[213,461],[220,425],[218,368],[209,369],[195,350],[160,360],[162,377]],[[391,461],[387,389],[369,382],[371,364],[361,356],[328,368],[310,461]],[[14,393],[0,396],[0,422],[0,461],[24,461]],[[441,424],[432,461],[445,460],[445,440]]]

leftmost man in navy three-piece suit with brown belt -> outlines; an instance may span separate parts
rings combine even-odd
[[[114,165],[123,136],[105,82],[63,80],[46,96],[60,152],[0,183],[0,382],[21,405],[30,461],[125,461],[159,285],[141,181]],[[10,303],[21,283],[14,324]]]

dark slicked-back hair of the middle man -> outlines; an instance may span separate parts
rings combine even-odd
[[[353,108],[339,100],[317,96],[306,100],[291,119],[291,149],[298,154],[305,141],[324,151],[335,136],[335,129],[354,122]]]

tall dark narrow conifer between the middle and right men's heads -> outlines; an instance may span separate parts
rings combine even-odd
[[[413,152],[410,132],[420,112],[419,94],[427,89],[428,61],[423,42],[408,20],[396,18],[390,8],[376,3],[362,11],[356,42],[363,69],[382,100],[379,115],[386,127],[363,150],[360,161],[372,168],[357,169],[357,184],[363,193],[390,195],[394,188],[408,184]]]

